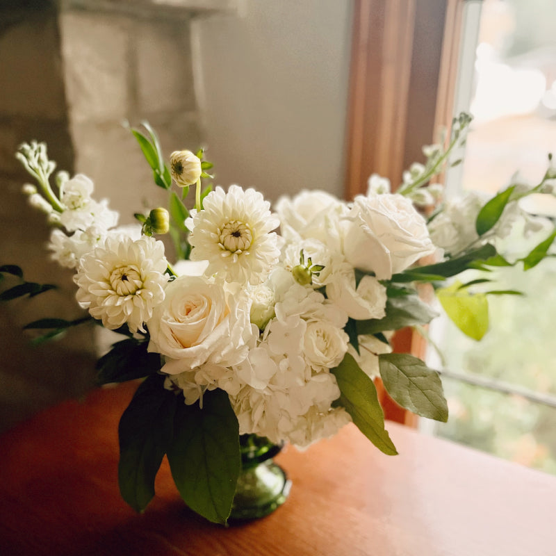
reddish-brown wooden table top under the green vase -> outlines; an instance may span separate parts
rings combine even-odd
[[[399,456],[351,426],[286,450],[290,498],[259,521],[206,523],[165,462],[137,515],[117,488],[117,422],[135,386],[65,402],[0,438],[0,555],[556,555],[556,477],[393,423]]]

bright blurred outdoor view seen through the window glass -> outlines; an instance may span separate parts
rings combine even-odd
[[[548,153],[556,156],[556,2],[484,0],[479,25],[478,44],[468,46],[476,47],[468,106],[474,121],[464,164],[455,172],[459,193],[493,194],[516,170],[539,183]],[[448,190],[454,195],[452,178]],[[545,197],[527,208],[555,218],[556,199]],[[516,229],[507,241],[517,255],[544,237],[526,238]],[[500,288],[525,295],[489,296],[491,329],[480,343],[442,320],[431,334],[445,360],[430,348],[430,364],[556,400],[556,258],[528,272],[500,270],[497,279]],[[555,407],[448,377],[443,383],[450,418],[435,434],[556,473]]]

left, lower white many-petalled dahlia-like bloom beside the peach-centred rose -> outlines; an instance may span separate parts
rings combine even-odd
[[[127,324],[131,332],[143,330],[164,299],[166,268],[161,241],[108,237],[81,259],[74,276],[77,301],[106,328]]]

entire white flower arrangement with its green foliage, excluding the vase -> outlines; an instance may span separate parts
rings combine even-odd
[[[76,299],[89,313],[26,328],[52,337],[95,320],[122,334],[98,361],[99,384],[142,379],[119,427],[126,502],[145,509],[167,455],[183,500],[225,523],[245,434],[304,448],[353,422],[395,455],[373,383],[378,376],[402,407],[447,420],[439,374],[411,354],[393,353],[392,332],[436,316],[419,295],[421,284],[432,284],[448,316],[479,339],[486,295],[516,292],[475,294],[474,284],[488,277],[466,284],[455,277],[471,268],[485,275],[500,265],[532,268],[556,236],[519,204],[532,193],[553,193],[551,164],[535,187],[512,183],[491,199],[442,202],[436,178],[470,121],[460,115],[447,145],[425,147],[425,165],[404,172],[396,193],[373,174],[368,193],[352,202],[302,191],[279,199],[273,212],[256,190],[203,187],[212,165],[202,150],[174,152],[167,165],[145,124],[146,133],[131,132],[169,206],[137,213],[137,227],[117,227],[118,214],[94,199],[88,177],[54,175],[44,144],[20,147],[17,158],[37,182],[24,193],[47,214],[51,257],[75,270]],[[195,205],[188,210],[190,186]],[[546,227],[548,238],[509,261],[496,241],[518,218],[528,229]],[[174,264],[154,237],[167,232]],[[53,287],[24,281],[14,265],[0,272],[21,282],[2,300]]]

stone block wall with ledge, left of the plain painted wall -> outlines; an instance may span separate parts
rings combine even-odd
[[[165,154],[201,140],[190,50],[190,18],[230,0],[66,0],[0,3],[0,264],[58,284],[33,298],[0,303],[0,430],[92,388],[92,327],[30,347],[22,326],[47,316],[77,318],[72,272],[49,261],[49,229],[20,193],[27,181],[13,154],[44,140],[58,168],[95,181],[121,222],[165,202],[123,124],[148,120]],[[0,286],[3,288],[4,286]]]

